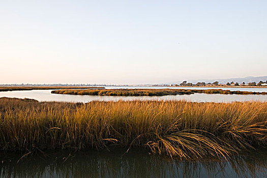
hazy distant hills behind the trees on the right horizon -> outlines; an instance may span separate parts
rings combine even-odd
[[[265,82],[267,80],[267,76],[261,76],[261,77],[244,77],[244,78],[225,78],[225,79],[198,79],[198,80],[187,80],[187,82],[191,82],[191,83],[197,83],[197,82],[205,82],[205,83],[209,83],[209,82],[214,82],[214,81],[219,81],[219,83],[222,84],[226,84],[227,82],[238,82],[238,83],[249,83],[249,82],[253,82],[255,81],[256,83],[259,81],[263,81]],[[180,84],[182,81],[179,82],[175,82],[175,84]]]

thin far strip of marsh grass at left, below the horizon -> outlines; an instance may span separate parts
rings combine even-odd
[[[87,88],[105,88],[94,86],[0,86],[0,92],[21,91],[21,90],[56,90],[56,89],[87,89]]]

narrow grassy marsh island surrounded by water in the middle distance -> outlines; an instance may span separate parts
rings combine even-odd
[[[67,95],[100,95],[100,96],[165,96],[165,95],[190,95],[204,94],[238,94],[238,95],[267,95],[267,92],[230,91],[222,89],[187,90],[187,89],[101,89],[101,90],[56,90],[52,94]]]

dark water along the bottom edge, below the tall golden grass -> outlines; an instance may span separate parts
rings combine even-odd
[[[0,177],[267,177],[267,152],[236,155],[228,161],[171,160],[145,151],[60,151],[0,154]]]

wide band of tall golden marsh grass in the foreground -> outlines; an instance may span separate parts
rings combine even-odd
[[[0,150],[142,147],[172,158],[227,158],[266,147],[267,103],[38,102],[0,98]]]

